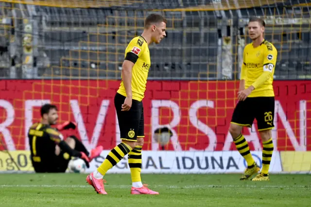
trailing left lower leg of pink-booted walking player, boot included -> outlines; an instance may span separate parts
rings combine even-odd
[[[87,175],[86,182],[93,186],[97,193],[107,194],[107,192],[104,190],[104,175],[109,169],[120,162],[124,155],[127,155],[130,151],[132,151],[132,149],[133,148],[125,142],[118,144],[109,152],[101,166],[99,166],[95,172]]]

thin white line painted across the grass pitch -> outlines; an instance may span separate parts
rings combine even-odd
[[[0,185],[1,188],[89,188],[89,185]],[[131,188],[131,185],[106,185],[108,188],[118,188],[125,189]],[[297,189],[297,188],[311,188],[310,185],[293,185],[293,186],[282,186],[282,185],[274,185],[274,186],[255,186],[255,185],[189,185],[189,186],[170,186],[170,185],[153,185],[152,187],[158,188],[169,188],[169,189],[196,189],[196,188],[246,188],[246,189],[271,189],[271,188],[283,188],[283,189]]]

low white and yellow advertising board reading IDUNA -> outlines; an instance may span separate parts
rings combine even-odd
[[[34,172],[30,151],[10,152],[21,172]],[[109,150],[104,150],[91,163],[86,173],[94,171]],[[255,161],[262,166],[262,153],[252,151]],[[144,151],[142,153],[143,173],[242,173],[246,163],[237,151],[224,152],[173,152]],[[17,166],[6,153],[0,153],[0,172],[16,172]],[[130,173],[127,155],[108,173]],[[311,152],[275,151],[270,173],[311,173]]]

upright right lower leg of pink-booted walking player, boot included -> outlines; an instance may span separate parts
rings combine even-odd
[[[138,138],[138,140],[139,140],[139,138]],[[131,177],[132,177],[131,194],[153,194],[153,195],[159,194],[158,192],[156,192],[154,190],[148,189],[146,184],[143,185],[141,183],[141,177],[140,177],[140,172],[141,172],[141,149],[142,149],[142,146],[137,145],[128,154],[128,165],[130,166]]]

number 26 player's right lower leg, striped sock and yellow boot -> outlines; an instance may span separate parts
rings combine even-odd
[[[262,145],[263,145],[262,170],[256,177],[252,179],[252,181],[269,181],[270,176],[268,172],[269,172],[270,162],[271,162],[272,154],[274,150],[273,141],[271,138],[271,130],[260,131],[259,133],[260,133],[261,139],[266,140],[266,141],[262,141]]]

